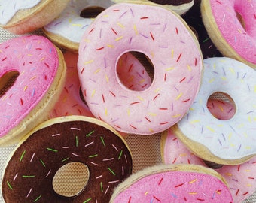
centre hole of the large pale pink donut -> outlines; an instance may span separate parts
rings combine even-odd
[[[135,63],[126,62],[126,53],[123,53],[117,61],[117,79],[127,89],[137,92],[144,91],[151,86],[154,80],[154,66],[144,53],[137,51],[130,51],[128,53],[135,56],[146,72],[139,72],[136,69]],[[150,77],[150,83],[145,83],[145,77]]]

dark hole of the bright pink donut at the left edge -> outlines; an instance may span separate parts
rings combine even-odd
[[[0,78],[0,98],[8,92],[11,86],[14,86],[19,75],[18,71],[9,71]]]

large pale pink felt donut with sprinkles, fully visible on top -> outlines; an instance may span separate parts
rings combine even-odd
[[[126,88],[117,77],[118,59],[130,51],[145,54],[154,66],[153,82],[143,91]],[[153,3],[112,5],[91,23],[79,47],[87,105],[120,132],[150,135],[181,120],[197,95],[202,69],[193,32],[178,14]]]

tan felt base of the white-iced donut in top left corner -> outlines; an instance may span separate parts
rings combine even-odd
[[[34,8],[18,11],[17,14],[2,27],[15,34],[34,31],[50,23],[50,21],[66,8],[68,2],[69,0],[41,0]]]

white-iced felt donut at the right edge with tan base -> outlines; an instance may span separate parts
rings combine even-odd
[[[206,161],[222,165],[246,162],[256,153],[256,72],[226,57],[204,59],[204,67],[200,92],[187,114],[173,126],[175,135]],[[236,113],[230,120],[219,120],[206,108],[215,92],[233,99]]]

